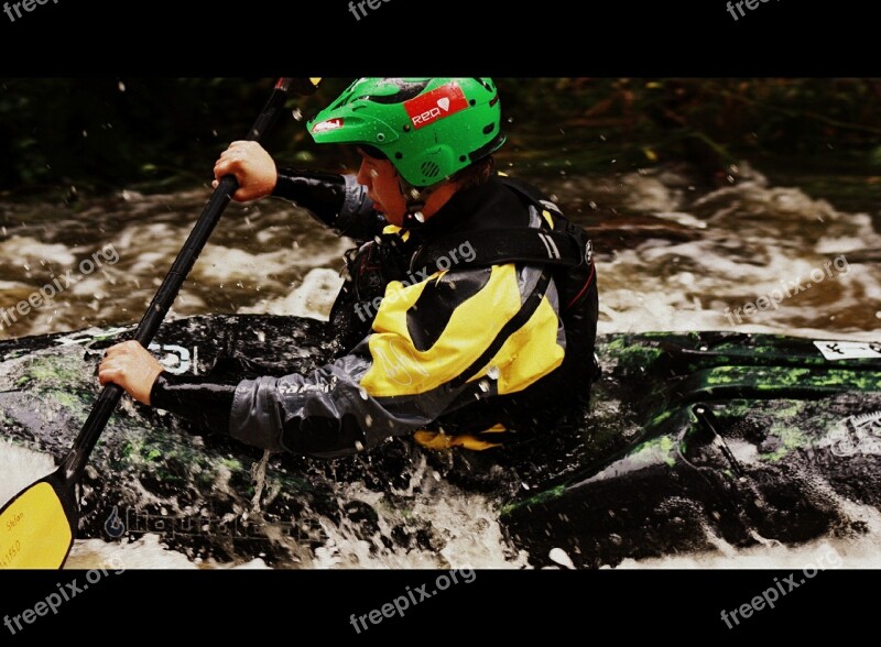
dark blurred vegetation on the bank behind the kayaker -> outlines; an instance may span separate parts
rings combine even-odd
[[[350,79],[293,98],[308,119]],[[502,164],[533,174],[688,162],[725,175],[746,157],[881,167],[881,79],[497,79],[510,144]],[[166,190],[210,179],[273,79],[12,78],[0,80],[0,196]],[[354,162],[316,146],[290,119],[268,147],[285,160]],[[574,167],[574,168],[572,168]]]

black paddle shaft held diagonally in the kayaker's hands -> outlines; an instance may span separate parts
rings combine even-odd
[[[251,130],[246,138],[248,141],[260,142],[272,129],[282,112],[287,94],[296,90],[298,94],[308,94],[315,89],[315,85],[309,79],[282,78],[272,90],[272,95],[267,101],[263,112],[257,118]],[[239,188],[239,183],[232,175],[222,177],[214,190],[210,200],[205,206],[199,219],[191,231],[181,252],[177,254],[165,279],[162,282],[153,301],[150,304],[138,329],[134,332],[134,340],[146,348],[156,335],[162,320],[167,315],[177,298],[177,293],[184,284],[189,271],[196,263],[205,243],[211,235],[215,226],[220,220],[224,210],[229,205],[232,194]],[[76,481],[86,467],[86,461],[98,441],[98,437],[104,431],[107,421],[113,414],[124,391],[117,384],[107,384],[98,399],[91,408],[88,419],[83,425],[70,452],[62,462],[61,469],[67,480]]]

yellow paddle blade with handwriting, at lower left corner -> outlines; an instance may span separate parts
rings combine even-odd
[[[59,569],[73,542],[67,513],[46,481],[21,492],[0,513],[0,569]]]

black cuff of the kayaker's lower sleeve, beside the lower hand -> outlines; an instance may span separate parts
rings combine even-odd
[[[229,414],[237,384],[160,373],[150,392],[151,406],[171,412],[211,431],[229,435]]]

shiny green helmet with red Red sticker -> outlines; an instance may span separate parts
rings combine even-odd
[[[379,150],[414,187],[437,184],[503,143],[488,78],[362,78],[308,122],[318,144]]]

